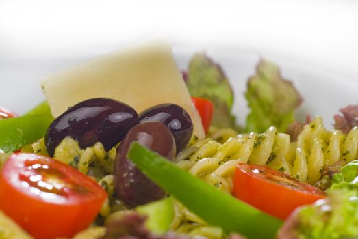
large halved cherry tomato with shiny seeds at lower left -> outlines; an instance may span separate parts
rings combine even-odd
[[[36,239],[86,229],[106,197],[75,168],[36,154],[12,154],[0,173],[0,209]]]

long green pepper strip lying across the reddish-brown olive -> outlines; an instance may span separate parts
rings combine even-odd
[[[131,145],[127,157],[190,211],[227,234],[238,232],[247,238],[274,238],[283,223],[196,178],[139,143]]]

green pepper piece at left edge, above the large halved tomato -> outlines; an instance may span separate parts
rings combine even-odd
[[[26,115],[0,120],[0,150],[13,152],[44,137],[51,115]]]

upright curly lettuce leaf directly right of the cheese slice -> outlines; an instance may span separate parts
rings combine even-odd
[[[191,96],[206,98],[214,104],[212,126],[236,128],[231,114],[233,90],[222,68],[205,53],[196,53],[186,73],[186,85]]]

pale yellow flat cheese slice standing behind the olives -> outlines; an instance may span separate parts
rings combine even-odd
[[[194,135],[205,137],[201,118],[166,42],[146,42],[94,59],[40,82],[53,116],[89,98],[106,97],[138,113],[156,104],[178,104],[189,113]]]

